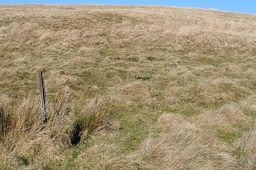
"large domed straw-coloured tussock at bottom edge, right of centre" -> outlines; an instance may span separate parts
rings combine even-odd
[[[182,129],[159,138],[149,136],[137,156],[149,169],[235,169],[228,149],[211,135]]]

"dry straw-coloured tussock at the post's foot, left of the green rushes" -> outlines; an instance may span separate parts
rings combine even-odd
[[[22,158],[26,160],[25,166],[48,167],[64,160],[64,149],[70,145],[70,115],[63,108],[54,109],[49,111],[48,123],[43,125],[38,101],[28,98],[14,111],[11,121],[13,126],[1,147],[6,153],[6,164],[15,166],[17,160]]]

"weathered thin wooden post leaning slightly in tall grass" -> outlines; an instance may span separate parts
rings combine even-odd
[[[40,98],[41,98],[41,108],[43,113],[43,123],[47,123],[48,113],[46,109],[46,97],[44,90],[44,74],[42,71],[39,71],[39,89],[40,89]]]

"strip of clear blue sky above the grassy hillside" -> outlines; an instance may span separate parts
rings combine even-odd
[[[0,0],[0,4],[147,4],[256,14],[256,0]]]

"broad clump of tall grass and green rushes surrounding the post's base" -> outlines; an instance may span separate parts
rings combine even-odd
[[[65,160],[67,148],[86,141],[115,111],[112,102],[100,97],[86,99],[83,107],[66,92],[52,101],[45,124],[39,98],[30,96],[18,109],[0,105],[1,162],[14,168],[55,166]]]

